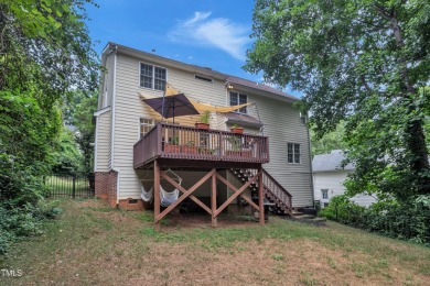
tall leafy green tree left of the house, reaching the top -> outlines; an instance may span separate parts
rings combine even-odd
[[[0,193],[11,198],[25,202],[40,193],[62,100],[77,88],[97,89],[86,3],[93,1],[0,0]]]

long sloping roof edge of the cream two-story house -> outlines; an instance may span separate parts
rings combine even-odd
[[[213,78],[216,78],[219,80],[225,80],[226,84],[234,84],[234,85],[238,85],[240,87],[245,87],[248,89],[264,91],[264,95],[266,95],[266,96],[270,95],[270,96],[273,96],[275,98],[288,100],[290,102],[295,102],[295,101],[300,100],[297,97],[293,97],[291,95],[288,95],[281,90],[278,90],[276,88],[272,88],[272,87],[264,85],[264,84],[255,82],[255,81],[251,81],[248,79],[244,79],[244,78],[227,75],[227,74],[224,74],[221,72],[216,72],[209,67],[202,67],[202,66],[197,66],[197,65],[185,64],[183,62],[179,62],[179,61],[171,59],[168,57],[162,57],[162,56],[155,55],[153,53],[139,51],[139,50],[123,46],[120,44],[116,44],[112,42],[109,42],[106,45],[106,47],[103,51],[101,56],[103,57],[107,56],[111,51],[119,51],[120,53],[126,54],[126,55],[135,56],[138,58],[152,59],[157,63],[164,64],[164,65],[175,67],[179,69],[187,70],[190,73],[195,73],[195,74],[203,75],[203,76],[209,76],[209,77],[213,77]]]

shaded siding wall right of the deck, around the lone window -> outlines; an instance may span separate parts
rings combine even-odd
[[[307,127],[298,120],[300,111],[292,103],[248,92],[251,101],[265,124],[264,135],[269,138],[270,162],[262,167],[292,195],[294,208],[313,206],[310,142]],[[255,108],[248,114],[258,118]],[[300,144],[301,164],[288,164],[286,142]]]

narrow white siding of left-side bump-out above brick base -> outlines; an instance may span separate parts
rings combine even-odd
[[[110,111],[97,118],[96,172],[109,170]]]

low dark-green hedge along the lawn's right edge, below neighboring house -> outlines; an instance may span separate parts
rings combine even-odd
[[[352,202],[346,196],[335,196],[319,215],[390,238],[430,245],[428,195],[415,196],[407,201],[381,200],[369,208]]]

